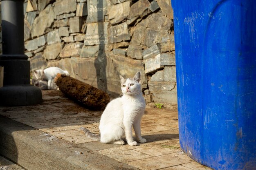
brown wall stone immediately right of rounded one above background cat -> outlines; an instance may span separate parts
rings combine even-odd
[[[64,48],[61,50],[60,57],[78,57],[79,56],[79,49],[83,45],[81,42],[70,43],[66,44]]]

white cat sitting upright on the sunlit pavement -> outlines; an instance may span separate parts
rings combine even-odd
[[[102,143],[124,145],[126,137],[130,146],[137,142],[132,138],[132,126],[139,143],[145,143],[141,137],[140,121],[145,110],[145,99],[142,96],[140,85],[140,72],[133,78],[124,79],[121,75],[121,89],[123,96],[112,100],[101,115],[99,123],[100,134],[95,135],[81,127],[85,135]]]

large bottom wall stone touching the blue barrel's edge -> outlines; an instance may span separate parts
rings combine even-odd
[[[175,66],[166,66],[164,70],[157,71],[149,80],[148,87],[154,102],[177,104]]]

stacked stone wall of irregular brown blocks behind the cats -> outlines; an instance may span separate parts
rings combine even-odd
[[[177,103],[170,0],[25,0],[31,71],[58,66],[119,95],[119,75],[142,73],[146,102]]]

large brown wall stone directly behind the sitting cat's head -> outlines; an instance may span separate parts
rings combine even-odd
[[[147,79],[144,74],[144,66],[141,60],[133,60],[128,57],[118,56],[108,51],[106,51],[106,57],[108,93],[117,97],[121,91],[119,75],[125,78],[133,77],[137,71],[140,71],[141,73],[141,87],[147,87]]]

